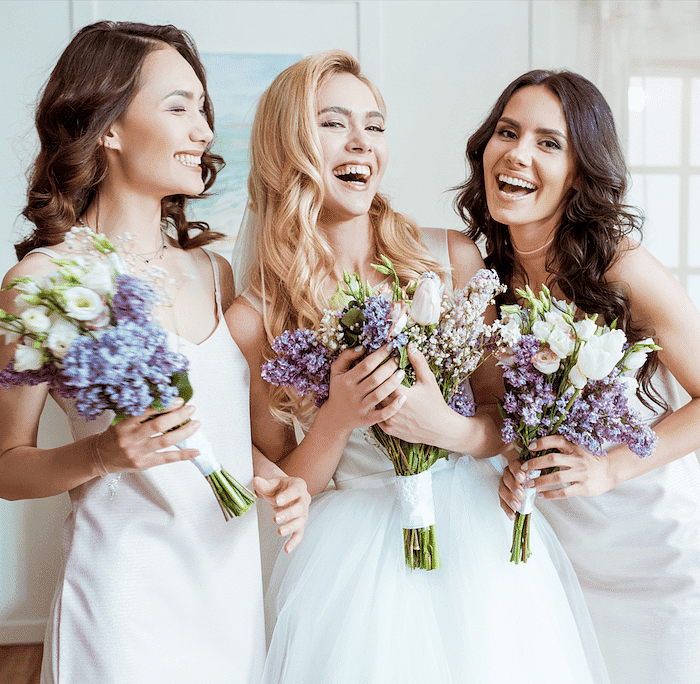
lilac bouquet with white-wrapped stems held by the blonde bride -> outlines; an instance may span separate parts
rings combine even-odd
[[[334,310],[324,313],[317,330],[280,335],[272,344],[277,357],[263,365],[263,377],[274,385],[294,387],[320,407],[328,398],[331,363],[344,349],[362,345],[371,354],[388,342],[406,371],[404,385],[415,382],[408,361],[410,346],[425,355],[448,405],[462,415],[473,415],[468,378],[482,362],[490,339],[484,312],[502,291],[495,272],[479,271],[467,287],[449,297],[435,273],[424,273],[401,288],[386,257],[374,268],[393,277],[391,287],[375,291],[357,274],[344,274],[344,286],[338,286],[330,302]],[[447,452],[405,442],[376,425],[366,437],[388,456],[397,475],[406,564],[411,569],[441,567],[430,468]]]

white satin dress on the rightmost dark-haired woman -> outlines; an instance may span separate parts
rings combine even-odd
[[[664,366],[654,386],[671,407],[679,405]],[[649,424],[663,417],[635,404]],[[600,496],[541,500],[538,507],[581,582],[612,684],[700,682],[695,454]]]

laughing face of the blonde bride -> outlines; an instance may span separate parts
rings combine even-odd
[[[372,91],[352,74],[331,76],[318,93],[317,120],[323,153],[321,221],[367,215],[388,160],[384,116]]]

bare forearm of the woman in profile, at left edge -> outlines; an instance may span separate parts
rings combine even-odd
[[[0,498],[39,499],[67,492],[100,475],[94,438],[53,449],[17,446],[0,455]]]

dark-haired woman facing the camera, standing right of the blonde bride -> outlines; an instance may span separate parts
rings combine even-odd
[[[553,436],[552,452],[501,482],[512,518],[525,486],[569,554],[615,684],[700,678],[700,314],[676,279],[630,234],[627,169],[607,102],[582,76],[530,71],[513,81],[467,143],[471,175],[455,201],[486,264],[509,286],[617,320],[628,339],[662,347],[639,369],[637,408],[658,435],[639,459],[611,444],[594,456]],[[690,395],[681,408],[673,378]],[[675,410],[674,410],[675,408]],[[558,468],[527,480],[527,472]],[[527,484],[526,484],[527,483]]]

